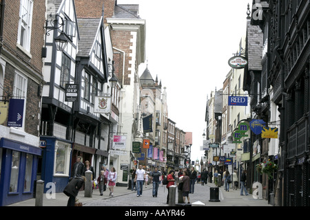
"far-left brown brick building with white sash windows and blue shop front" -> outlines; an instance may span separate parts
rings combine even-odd
[[[0,3],[0,206],[33,197],[37,175],[45,1]]]

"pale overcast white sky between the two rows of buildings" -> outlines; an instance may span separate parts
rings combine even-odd
[[[138,3],[146,20],[149,72],[167,87],[168,116],[193,133],[192,160],[203,156],[205,109],[211,91],[222,89],[228,60],[245,36],[252,0],[118,0]],[[145,70],[139,67],[139,76]]]

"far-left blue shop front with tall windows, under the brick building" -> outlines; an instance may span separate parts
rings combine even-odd
[[[41,148],[1,137],[0,206],[32,199]]]

